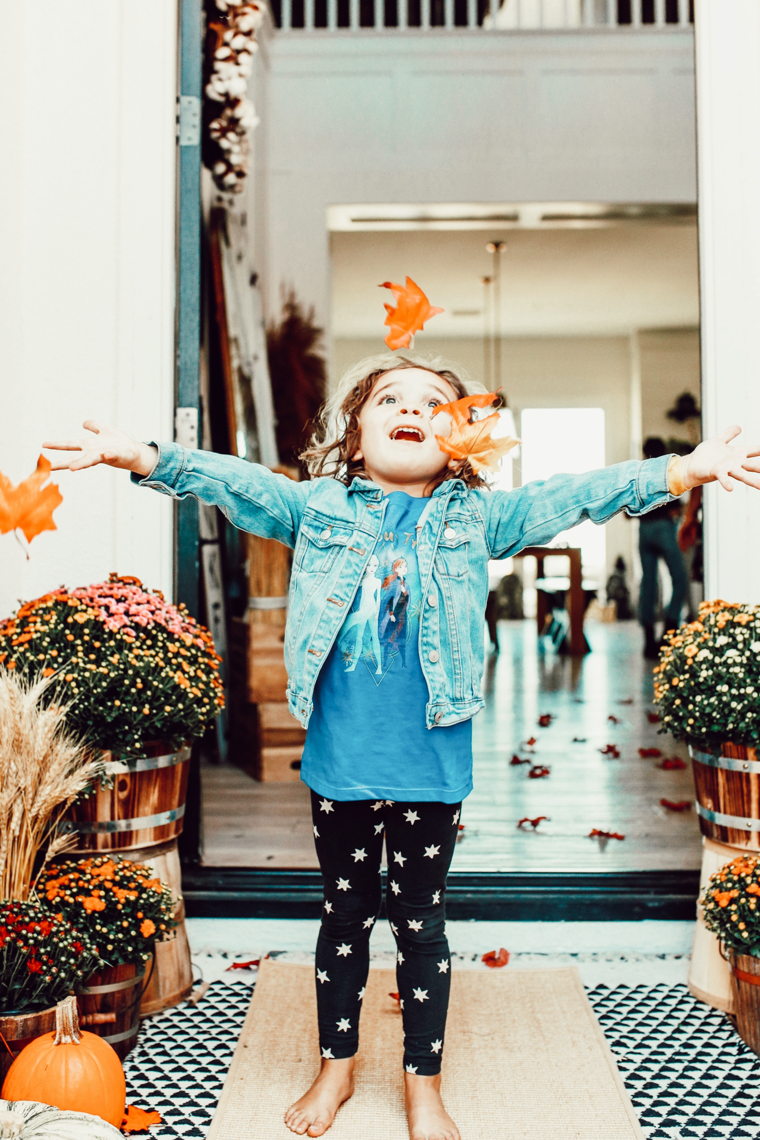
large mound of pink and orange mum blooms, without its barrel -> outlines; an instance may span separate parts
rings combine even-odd
[[[137,578],[62,587],[0,621],[0,665],[55,675],[68,726],[115,752],[201,736],[224,703],[219,661],[209,630]]]

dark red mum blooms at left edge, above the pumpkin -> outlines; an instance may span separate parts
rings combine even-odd
[[[98,967],[87,934],[39,903],[0,903],[0,1010],[46,1009]]]

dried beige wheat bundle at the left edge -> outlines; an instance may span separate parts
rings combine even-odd
[[[47,848],[47,862],[74,845],[58,824],[103,771],[103,762],[66,734],[65,706],[43,707],[50,684],[0,669],[0,898],[25,902],[40,852]]]

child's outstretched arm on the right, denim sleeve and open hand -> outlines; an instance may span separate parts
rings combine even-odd
[[[545,546],[586,519],[600,524],[619,511],[645,514],[702,483],[717,481],[733,490],[737,481],[760,489],[760,445],[732,443],[739,431],[727,427],[685,456],[615,463],[582,475],[553,475],[514,491],[484,492],[481,503],[492,556]]]

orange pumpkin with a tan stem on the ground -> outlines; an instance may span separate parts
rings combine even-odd
[[[2,1097],[91,1113],[120,1127],[124,1070],[107,1041],[80,1031],[76,999],[66,997],[56,1008],[56,1032],[31,1041],[8,1069]]]

